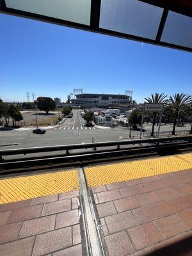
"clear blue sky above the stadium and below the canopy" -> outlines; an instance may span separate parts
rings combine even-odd
[[[192,54],[0,14],[0,98],[133,91],[192,94]]]

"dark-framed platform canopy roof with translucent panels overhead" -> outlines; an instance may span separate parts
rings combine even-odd
[[[0,12],[192,52],[191,0],[0,0]]]

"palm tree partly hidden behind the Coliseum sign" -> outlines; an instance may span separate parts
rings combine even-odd
[[[167,95],[165,95],[164,93],[155,93],[152,94],[151,97],[145,98],[145,100],[147,100],[148,103],[165,103],[166,102],[166,98]],[[154,112],[153,116],[152,116],[152,131],[151,131],[151,136],[154,136],[154,127],[156,124],[156,120],[157,120],[157,116],[158,113]]]

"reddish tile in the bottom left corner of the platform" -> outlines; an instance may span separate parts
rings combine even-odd
[[[11,243],[1,244],[2,256],[31,256],[35,237],[20,239]]]

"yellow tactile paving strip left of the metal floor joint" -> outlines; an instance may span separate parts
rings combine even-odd
[[[77,171],[0,180],[0,204],[79,189]]]

